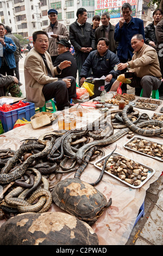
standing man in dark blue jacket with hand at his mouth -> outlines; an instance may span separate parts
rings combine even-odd
[[[127,63],[133,57],[134,49],[131,47],[131,38],[135,34],[143,35],[145,40],[145,32],[143,21],[131,16],[132,10],[129,3],[122,5],[122,16],[123,18],[117,23],[115,27],[114,39],[119,42],[117,48],[117,56],[121,63]],[[126,70],[122,70],[122,73]],[[124,88],[123,88],[124,87]],[[123,92],[126,92],[126,84],[122,84]],[[135,94],[140,95],[140,92]]]

